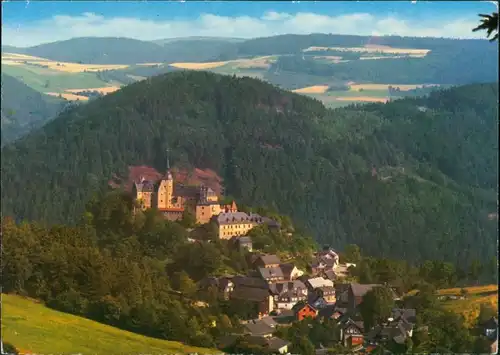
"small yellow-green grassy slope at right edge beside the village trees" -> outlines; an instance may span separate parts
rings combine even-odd
[[[468,298],[465,300],[443,301],[444,308],[462,314],[468,326],[473,326],[479,316],[479,307],[489,304],[498,310],[498,285],[465,287]],[[459,295],[460,288],[439,290],[440,295]]]

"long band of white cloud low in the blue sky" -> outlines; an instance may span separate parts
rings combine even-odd
[[[25,47],[74,37],[154,40],[188,36],[254,38],[285,33],[484,38],[484,33],[471,31],[477,24],[476,14],[470,18],[434,18],[422,22],[401,19],[394,14],[386,17],[368,13],[327,16],[317,13],[288,14],[270,11],[261,17],[201,14],[196,19],[159,21],[134,17],[104,17],[86,12],[80,16],[56,15],[18,26],[4,23],[2,42]]]

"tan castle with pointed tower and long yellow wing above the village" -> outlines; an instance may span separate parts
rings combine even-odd
[[[167,158],[168,159],[168,158]],[[142,210],[156,208],[170,221],[182,219],[184,212],[194,213],[197,224],[213,220],[218,226],[219,238],[231,239],[248,233],[253,227],[276,222],[257,214],[238,211],[236,202],[221,205],[217,194],[206,186],[186,186],[174,181],[167,160],[167,173],[158,181],[141,178],[134,182],[135,199]]]

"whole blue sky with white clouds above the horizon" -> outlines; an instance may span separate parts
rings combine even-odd
[[[484,38],[485,33],[471,31],[478,14],[497,9],[492,1],[2,1],[2,44],[286,33]]]

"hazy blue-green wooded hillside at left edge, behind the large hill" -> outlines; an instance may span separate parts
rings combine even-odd
[[[2,73],[2,145],[41,127],[63,105],[63,100],[43,95]]]

